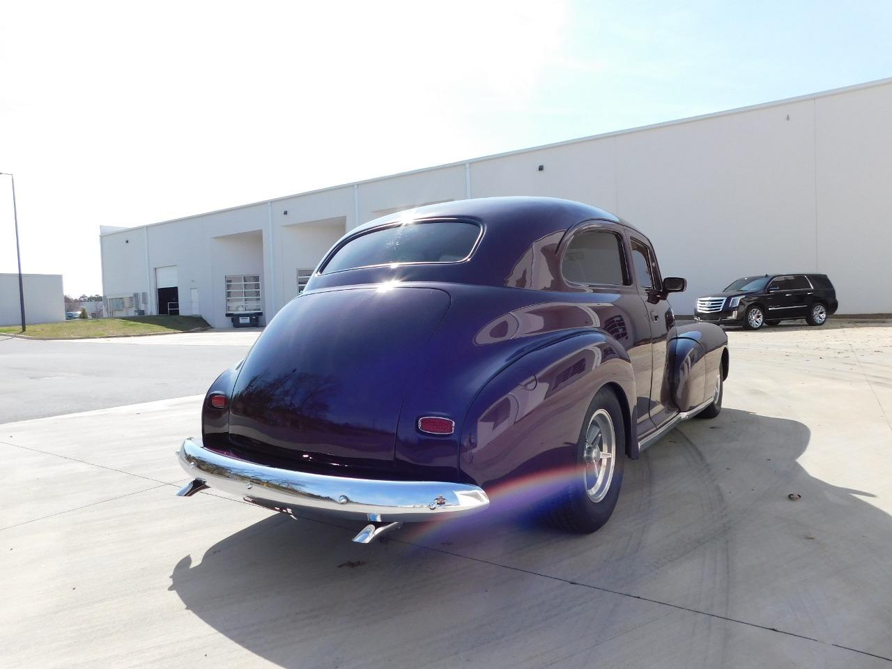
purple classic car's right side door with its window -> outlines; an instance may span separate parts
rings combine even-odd
[[[648,414],[654,425],[662,425],[673,414],[671,388],[666,377],[666,358],[670,333],[675,327],[675,316],[663,293],[663,278],[657,266],[657,256],[646,237],[629,234],[635,285],[648,312],[650,327],[651,368]]]

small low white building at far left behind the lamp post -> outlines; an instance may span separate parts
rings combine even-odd
[[[22,274],[25,323],[55,323],[65,320],[65,296],[61,274]],[[21,325],[19,275],[0,274],[0,326]]]

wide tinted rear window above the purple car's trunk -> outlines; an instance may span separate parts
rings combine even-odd
[[[354,237],[326,262],[322,274],[343,269],[418,262],[461,262],[483,228],[462,220],[419,221],[379,227]]]

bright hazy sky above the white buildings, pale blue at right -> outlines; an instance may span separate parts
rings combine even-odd
[[[892,3],[0,0],[21,264],[101,293],[99,226],[892,77]],[[0,177],[0,272],[16,270]]]

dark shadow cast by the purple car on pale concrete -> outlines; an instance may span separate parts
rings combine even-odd
[[[524,514],[534,487],[494,500],[493,513],[368,546],[350,542],[359,524],[268,516],[181,558],[170,590],[213,630],[284,667],[578,665],[602,642],[618,663],[626,651],[608,640],[640,635],[641,662],[676,665],[658,641],[681,635],[693,665],[708,656],[717,666],[741,650],[720,618],[890,657],[892,519],[862,500],[870,491],[799,466],[810,434],[727,408],[690,421],[626,462],[615,514],[592,535]],[[753,665],[772,658],[772,640],[789,642],[760,634],[763,645],[747,651]],[[817,662],[828,647],[808,643]]]

